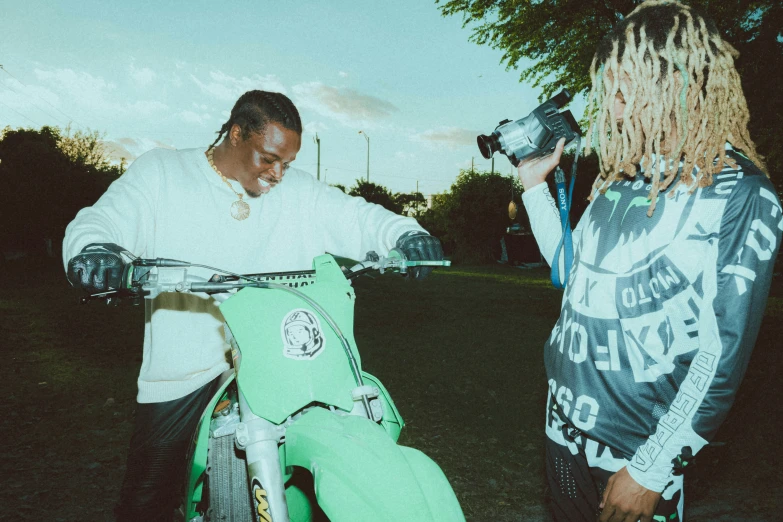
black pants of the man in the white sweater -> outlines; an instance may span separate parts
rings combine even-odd
[[[198,421],[220,386],[215,380],[167,402],[138,404],[118,522],[171,522],[184,491],[186,459]]]

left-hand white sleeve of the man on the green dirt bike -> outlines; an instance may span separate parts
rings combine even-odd
[[[90,243],[115,243],[141,256],[154,230],[157,180],[161,172],[157,154],[139,157],[91,207],[76,214],[65,229],[63,264]]]

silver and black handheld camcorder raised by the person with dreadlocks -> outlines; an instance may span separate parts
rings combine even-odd
[[[501,121],[489,136],[476,137],[481,155],[490,159],[500,151],[516,167],[522,160],[551,154],[560,138],[568,145],[582,134],[571,111],[559,112],[570,100],[571,93],[563,89],[524,118]]]

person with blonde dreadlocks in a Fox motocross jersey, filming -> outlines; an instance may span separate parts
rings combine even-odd
[[[682,472],[734,401],[783,230],[736,57],[673,1],[640,4],[596,52],[600,175],[545,351],[557,520],[681,520]],[[543,181],[562,150],[519,166],[550,264],[562,232]]]

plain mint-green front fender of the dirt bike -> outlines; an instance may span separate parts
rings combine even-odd
[[[310,410],[286,431],[285,454],[310,470],[333,522],[465,520],[438,465],[364,417]]]

